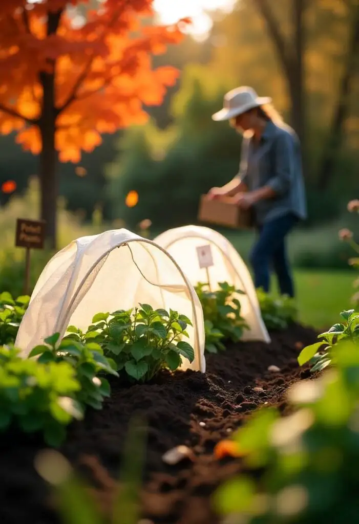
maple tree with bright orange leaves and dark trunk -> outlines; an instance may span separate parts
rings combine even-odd
[[[95,4],[95,9],[91,6]],[[142,124],[143,105],[161,103],[176,82],[151,54],[182,37],[143,24],[153,0],[1,0],[0,133],[17,132],[39,154],[40,216],[56,246],[57,161],[78,162],[101,134]]]

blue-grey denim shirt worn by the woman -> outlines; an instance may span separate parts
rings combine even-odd
[[[268,122],[260,142],[243,138],[240,172],[237,177],[249,191],[270,187],[276,196],[254,206],[257,224],[292,213],[306,219],[307,205],[302,173],[300,143],[288,126]]]

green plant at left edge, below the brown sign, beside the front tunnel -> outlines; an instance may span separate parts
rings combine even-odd
[[[15,342],[19,325],[29,305],[30,297],[14,299],[10,293],[0,294],[0,345]]]

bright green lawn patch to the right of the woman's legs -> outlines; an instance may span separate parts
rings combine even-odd
[[[340,322],[340,312],[353,307],[355,276],[352,271],[296,270],[300,322],[318,329]]]

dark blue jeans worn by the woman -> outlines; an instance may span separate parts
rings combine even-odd
[[[281,294],[294,297],[294,285],[289,266],[286,235],[298,222],[293,214],[287,214],[258,227],[259,236],[250,261],[254,270],[256,288],[269,292],[270,270],[273,268]]]

